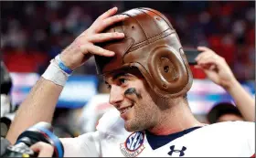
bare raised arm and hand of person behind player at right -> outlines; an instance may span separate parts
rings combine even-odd
[[[196,58],[196,68],[203,69],[208,79],[229,92],[245,121],[255,121],[255,100],[241,87],[225,58],[208,47],[197,47],[197,49],[202,53]]]

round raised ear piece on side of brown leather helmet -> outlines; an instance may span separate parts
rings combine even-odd
[[[187,68],[179,52],[171,47],[156,47],[148,59],[148,68],[157,89],[175,95],[189,81]]]

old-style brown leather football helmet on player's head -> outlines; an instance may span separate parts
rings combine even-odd
[[[121,32],[125,37],[100,45],[115,52],[115,56],[95,56],[98,74],[136,67],[160,97],[176,98],[187,93],[193,77],[168,19],[151,8],[134,8],[121,15],[128,17],[104,32]]]

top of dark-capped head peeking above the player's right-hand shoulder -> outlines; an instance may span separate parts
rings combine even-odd
[[[219,102],[208,112],[208,122],[244,121],[240,111],[229,102]]]

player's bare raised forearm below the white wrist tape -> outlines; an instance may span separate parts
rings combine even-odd
[[[15,143],[18,135],[28,127],[38,121],[50,122],[62,89],[62,86],[47,79],[39,79],[29,92],[27,99],[16,111],[15,120],[12,122],[6,138]]]

